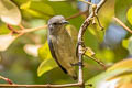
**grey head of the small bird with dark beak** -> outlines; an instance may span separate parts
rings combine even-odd
[[[66,21],[63,15],[55,15],[48,20],[48,30],[52,33],[58,33],[64,30],[64,26],[67,23],[68,21]]]

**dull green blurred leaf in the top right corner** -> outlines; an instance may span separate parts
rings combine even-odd
[[[132,0],[116,0],[116,16],[127,23],[127,11],[132,4]]]

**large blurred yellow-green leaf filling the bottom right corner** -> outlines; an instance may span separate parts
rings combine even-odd
[[[87,84],[92,84],[91,88],[121,88],[120,85],[130,82],[132,79],[131,64],[132,59],[119,62],[105,73],[89,79]]]

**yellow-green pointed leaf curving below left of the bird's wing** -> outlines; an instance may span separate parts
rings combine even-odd
[[[37,68],[37,76],[42,76],[44,73],[58,67],[53,58],[44,59]]]

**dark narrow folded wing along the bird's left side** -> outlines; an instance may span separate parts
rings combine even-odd
[[[58,66],[62,68],[62,70],[64,70],[64,73],[67,74],[67,70],[59,64],[59,62],[57,61],[57,57],[55,55],[55,51],[54,51],[54,46],[53,46],[53,42],[52,40],[48,37],[48,46],[52,53],[53,58],[55,58],[56,63],[58,64]]]

